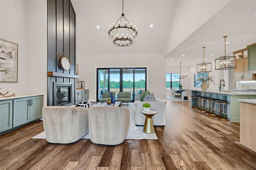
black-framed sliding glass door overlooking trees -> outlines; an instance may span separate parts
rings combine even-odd
[[[131,100],[146,90],[146,68],[98,68],[97,69],[97,101],[103,92],[131,92]]]

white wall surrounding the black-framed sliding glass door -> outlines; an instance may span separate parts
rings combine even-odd
[[[77,56],[79,57],[79,56]],[[163,54],[80,55],[79,76],[89,88],[89,100],[96,100],[96,67],[148,67],[148,86],[160,99],[165,99],[166,59]],[[155,81],[155,84],[150,84]]]

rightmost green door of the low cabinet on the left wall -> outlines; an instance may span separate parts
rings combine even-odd
[[[42,117],[43,96],[30,98],[30,121],[40,119]]]

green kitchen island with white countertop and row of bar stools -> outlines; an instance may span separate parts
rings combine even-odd
[[[218,90],[191,90],[191,95],[198,95],[203,97],[215,98],[227,101],[228,104],[223,107],[223,116],[230,122],[240,122],[240,101],[237,99],[256,99],[256,93],[251,92],[231,92],[231,91],[218,91]],[[191,98],[191,107],[196,106],[196,98]],[[200,104],[200,101],[197,101]],[[205,107],[209,107],[209,102],[206,102]],[[219,110],[217,103],[214,103],[214,108]],[[218,111],[214,111],[219,114]]]

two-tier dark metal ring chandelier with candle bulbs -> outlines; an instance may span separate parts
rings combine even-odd
[[[124,26],[122,26],[122,24]],[[108,28],[108,35],[113,39],[113,43],[116,46],[131,45],[133,43],[133,39],[137,37],[137,33],[138,31],[136,26],[132,26],[132,23],[124,16],[124,13],[121,14],[121,17],[116,23],[113,23],[113,26],[110,25]]]

